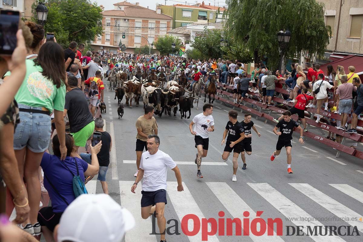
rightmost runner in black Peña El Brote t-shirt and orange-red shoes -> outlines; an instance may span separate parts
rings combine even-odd
[[[293,130],[294,128],[297,128],[297,130],[300,131],[299,142],[303,144],[303,129],[295,120],[291,119],[290,111],[286,111],[282,115],[284,115],[284,119],[278,122],[273,129],[273,132],[278,135],[278,140],[276,144],[276,151],[272,153],[270,160],[273,161],[276,156],[280,155],[282,147],[285,146],[287,155],[287,172],[291,174],[293,173],[293,171],[291,170],[291,148],[293,146]],[[279,132],[277,132],[278,128],[280,128]]]

